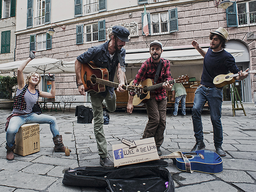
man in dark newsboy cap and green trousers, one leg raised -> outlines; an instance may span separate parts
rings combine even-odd
[[[124,28],[122,26],[114,26],[112,28],[112,33],[109,34],[109,40],[106,43],[89,48],[87,52],[84,52],[83,54],[78,56],[75,61],[78,91],[81,95],[85,95],[85,92],[89,91],[92,103],[94,116],[94,134],[100,155],[100,165],[107,168],[114,167],[114,163],[108,158],[107,141],[103,132],[104,117],[102,106],[105,106],[110,112],[115,111],[116,94],[114,92],[114,87],[105,86],[105,90],[104,88],[99,88],[99,90],[95,90],[94,88],[98,87],[98,84],[94,86],[93,82],[91,82],[91,85],[87,85],[90,84],[88,83],[88,81],[90,82],[88,72],[87,78],[85,80],[86,84],[84,85],[81,79],[81,68],[82,65],[88,66],[87,63],[92,61],[96,65],[96,67],[106,68],[108,70],[108,80],[113,82],[117,67],[116,75],[119,81],[117,92],[124,92],[125,90],[122,87],[124,86],[125,78],[122,68],[124,68],[123,64],[125,63],[125,49],[123,48],[123,46],[125,45],[125,42],[129,42],[129,35],[130,32],[127,28]],[[122,58],[123,62],[121,62],[119,58]]]

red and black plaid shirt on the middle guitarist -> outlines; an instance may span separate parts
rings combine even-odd
[[[172,80],[172,74],[170,69],[170,62],[169,60],[160,58],[162,60],[162,71],[160,73],[160,76],[158,77],[156,84],[164,83],[166,80],[170,81]],[[133,85],[139,84],[141,81],[144,81],[148,78],[153,79],[156,76],[156,70],[157,65],[152,60],[152,58],[148,58],[146,61],[144,61],[135,76],[135,79],[133,81]],[[160,87],[158,89],[155,89],[154,91],[151,91],[155,93],[156,100],[163,100],[166,97],[166,90],[163,87]],[[135,95],[135,93],[131,93],[131,95]]]

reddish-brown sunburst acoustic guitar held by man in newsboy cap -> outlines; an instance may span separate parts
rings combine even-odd
[[[106,90],[105,85],[115,88],[118,87],[118,83],[108,80],[108,70],[106,68],[98,68],[92,61],[89,63],[83,63],[81,67],[81,77],[85,92],[104,92]],[[136,94],[142,93],[142,87],[134,85],[124,85],[123,89]]]

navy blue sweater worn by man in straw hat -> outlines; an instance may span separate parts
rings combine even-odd
[[[215,87],[213,84],[214,77],[221,74],[238,73],[235,58],[227,51],[213,52],[208,49],[204,56],[203,73],[201,84],[208,87]]]

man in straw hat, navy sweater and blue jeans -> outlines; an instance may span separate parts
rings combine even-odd
[[[226,156],[225,151],[221,147],[223,135],[220,117],[223,92],[222,87],[215,87],[213,79],[215,76],[228,74],[228,71],[230,71],[234,74],[238,73],[239,76],[235,78],[237,81],[241,81],[248,76],[249,69],[246,69],[244,72],[239,71],[234,57],[224,50],[226,47],[225,43],[228,42],[228,31],[226,29],[220,27],[216,31],[210,32],[209,37],[211,42],[207,52],[199,47],[199,44],[195,40],[192,41],[193,47],[204,57],[204,66],[200,82],[201,85],[196,89],[192,110],[196,145],[191,151],[205,148],[201,112],[204,104],[208,101],[213,126],[214,147],[219,156]]]

